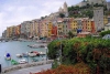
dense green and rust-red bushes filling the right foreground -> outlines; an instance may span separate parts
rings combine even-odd
[[[36,74],[63,74],[65,72],[68,72],[68,74],[80,72],[80,74],[110,73],[110,40],[95,38],[55,40],[48,44],[47,55],[48,59],[56,61],[59,56],[62,57],[54,64],[56,67],[53,70]],[[62,65],[58,62],[62,62]]]

